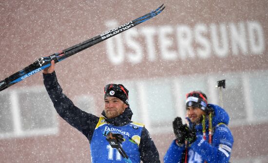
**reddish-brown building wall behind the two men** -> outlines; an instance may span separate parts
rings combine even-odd
[[[268,47],[268,15],[266,0],[225,0],[214,1],[89,1],[65,0],[57,1],[16,1],[1,0],[0,2],[0,78],[4,79],[20,69],[31,64],[40,56],[50,55],[72,45],[97,36],[110,29],[105,25],[108,20],[115,19],[118,25],[124,24],[134,18],[142,16],[165,3],[166,9],[152,20],[146,21],[137,27],[138,32],[143,27],[156,30],[170,28],[170,33],[162,34],[157,31],[153,36],[156,58],[149,61],[148,48],[145,35],[140,33],[133,37],[143,50],[139,63],[128,60],[129,54],[136,54],[136,49],[123,45],[125,48],[124,60],[115,65],[109,60],[106,41],[72,56],[57,64],[57,77],[60,84],[71,99],[75,95],[95,94],[97,109],[102,110],[102,87],[110,81],[135,78],[146,79],[153,77],[172,77],[198,73],[209,74],[217,72],[244,72],[255,70],[268,70],[267,50],[261,54],[252,54],[249,42],[245,54],[239,49],[234,54],[231,47],[231,34],[228,30],[229,49],[224,57],[219,57],[211,50],[206,58],[187,55],[182,58],[177,28],[186,25],[194,34],[196,26],[210,27],[211,24],[242,23],[245,29],[248,22],[254,21],[262,27],[265,47]],[[217,26],[219,30],[219,26]],[[238,27],[238,25],[236,26]],[[209,29],[209,28],[207,28]],[[203,37],[212,42],[211,31],[203,31]],[[248,31],[246,36],[249,37]],[[163,59],[161,55],[161,35],[170,38],[172,43],[166,45],[169,52],[174,52],[175,59]],[[120,34],[121,35],[121,34]],[[122,35],[122,36],[125,36]],[[112,39],[111,39],[112,40]],[[122,39],[123,41],[126,41]],[[108,40],[107,40],[108,41]],[[194,52],[204,49],[198,39],[192,40]],[[249,41],[249,39],[247,39]],[[259,40],[257,40],[258,42]],[[115,39],[113,39],[115,43]],[[118,47],[116,47],[118,48]],[[200,68],[201,61],[202,68]],[[20,88],[42,85],[41,73],[35,74],[25,81],[12,86]],[[8,89],[7,89],[8,91]],[[90,162],[90,150],[87,139],[76,129],[70,127],[58,118],[59,131],[57,135],[35,136],[25,138],[10,138],[0,140],[1,162],[29,163],[29,162]],[[266,156],[268,140],[258,133],[266,132],[267,123],[253,126],[231,127],[234,136],[232,158],[244,158],[252,155]],[[152,135],[160,152],[161,159],[173,139],[172,131],[162,135]],[[259,143],[262,142],[262,143]]]

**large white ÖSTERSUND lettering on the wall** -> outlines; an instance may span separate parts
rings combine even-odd
[[[109,28],[116,25],[110,21]],[[126,24],[124,24],[126,25]],[[121,26],[102,36],[103,39],[131,28]],[[220,24],[196,24],[194,27],[179,24],[160,27],[134,28],[106,41],[108,59],[113,65],[126,60],[138,64],[158,61],[220,58],[230,55],[264,54],[266,41],[261,23],[257,21]],[[124,39],[123,39],[124,38]],[[157,39],[156,39],[157,38]],[[144,42],[140,42],[140,41]],[[242,57],[242,56],[241,56]]]

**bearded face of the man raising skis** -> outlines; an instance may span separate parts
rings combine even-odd
[[[106,97],[104,99],[104,112],[107,118],[115,118],[122,114],[128,105],[116,97]]]

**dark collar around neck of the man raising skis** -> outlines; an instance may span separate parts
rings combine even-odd
[[[108,123],[110,123],[111,125],[114,125],[114,126],[125,126],[125,125],[127,125],[127,124],[129,124],[129,123],[132,122],[131,121],[131,118],[132,118],[133,112],[130,109],[130,107],[128,107],[128,108],[125,109],[125,111],[121,115],[119,115],[119,116],[117,116],[115,118],[108,119],[106,117],[106,115],[105,115],[104,110],[102,111],[101,115],[103,115],[106,118],[106,121]]]

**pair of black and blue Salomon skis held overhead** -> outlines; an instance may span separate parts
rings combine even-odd
[[[55,63],[62,61],[63,59],[72,56],[74,54],[77,54],[78,52],[85,50],[93,45],[96,45],[97,43],[100,43],[112,36],[115,36],[117,34],[120,34],[146,20],[149,20],[156,15],[160,14],[164,10],[165,6],[162,4],[160,7],[158,7],[156,10],[151,11],[150,13],[136,18],[128,23],[125,23],[121,26],[118,26],[110,31],[106,31],[98,36],[95,36],[93,38],[90,38],[86,41],[83,41],[77,45],[74,45],[72,47],[69,47],[65,50],[62,50],[58,53],[51,54],[49,56],[44,56],[38,58],[34,63],[31,65],[25,67],[24,69],[20,70],[19,72],[16,72],[12,74],[11,76],[5,78],[4,80],[0,81],[0,91],[3,91],[4,89],[24,80],[25,78],[32,76],[33,74],[40,72],[44,70],[45,68],[49,67],[51,65],[51,61],[55,60]]]

